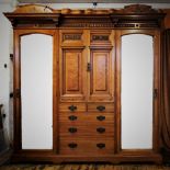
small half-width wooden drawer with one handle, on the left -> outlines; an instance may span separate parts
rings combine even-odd
[[[86,103],[60,103],[59,112],[86,112]]]

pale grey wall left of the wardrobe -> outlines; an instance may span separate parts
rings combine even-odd
[[[12,26],[3,12],[11,11],[11,4],[0,4],[0,103],[3,104],[2,113],[4,118],[4,127],[10,138],[10,53],[12,53]],[[7,68],[4,65],[7,64]]]

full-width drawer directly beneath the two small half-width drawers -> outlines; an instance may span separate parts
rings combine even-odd
[[[60,123],[69,123],[69,124],[87,124],[89,122],[93,123],[105,123],[113,124],[114,123],[114,113],[59,113],[59,122]]]

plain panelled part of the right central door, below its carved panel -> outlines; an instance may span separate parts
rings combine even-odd
[[[91,49],[90,101],[113,101],[113,63],[110,49]]]

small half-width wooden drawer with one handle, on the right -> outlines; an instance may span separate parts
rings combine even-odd
[[[114,103],[88,103],[88,112],[114,112]]]

